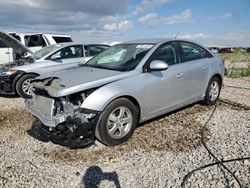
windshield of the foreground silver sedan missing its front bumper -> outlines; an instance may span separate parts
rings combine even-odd
[[[152,47],[153,44],[118,44],[84,65],[117,71],[133,70]]]

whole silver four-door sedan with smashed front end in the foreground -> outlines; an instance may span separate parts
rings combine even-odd
[[[36,78],[26,107],[39,119],[37,138],[79,147],[96,137],[114,146],[140,122],[200,100],[215,104],[223,75],[223,60],[194,42],[135,40],[77,70]]]

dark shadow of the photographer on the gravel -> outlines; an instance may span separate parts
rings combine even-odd
[[[85,188],[98,188],[104,180],[113,182],[116,188],[121,188],[118,175],[115,171],[103,172],[100,167],[95,165],[87,169],[82,178],[82,183]]]

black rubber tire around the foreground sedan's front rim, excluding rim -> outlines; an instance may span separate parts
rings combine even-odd
[[[126,136],[124,136],[123,138],[120,138],[120,139],[114,139],[108,133],[107,120],[108,120],[110,113],[114,109],[121,107],[121,106],[124,106],[131,111],[132,118],[133,118],[132,126],[131,126],[131,129]],[[104,111],[102,112],[102,114],[99,118],[99,121],[97,123],[96,128],[98,131],[98,135],[100,136],[101,142],[103,142],[105,145],[108,145],[108,146],[116,146],[116,145],[119,145],[119,144],[127,141],[132,136],[137,123],[138,123],[138,110],[137,110],[136,106],[128,99],[120,98],[120,99],[116,99],[113,102],[111,102],[104,109]]]

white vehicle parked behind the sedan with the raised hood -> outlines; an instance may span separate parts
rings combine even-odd
[[[52,44],[72,42],[71,36],[69,35],[14,32],[9,33],[9,35],[16,38],[33,52]],[[3,41],[0,41],[0,64],[8,63],[16,59],[19,59],[19,55]]]

